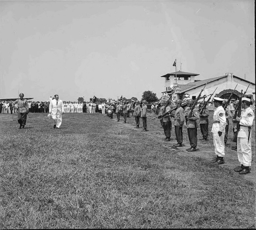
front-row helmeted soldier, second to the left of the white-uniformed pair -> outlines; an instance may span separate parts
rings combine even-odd
[[[172,115],[174,117],[174,129],[175,129],[175,136],[177,140],[177,144],[174,145],[176,147],[181,147],[183,142],[182,127],[184,124],[185,117],[184,117],[184,110],[181,107],[181,103],[182,101],[180,99],[175,101],[175,105],[178,108],[175,111],[175,115]]]

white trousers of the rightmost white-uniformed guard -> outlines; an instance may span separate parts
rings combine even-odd
[[[251,133],[247,137],[237,137],[237,156],[241,165],[251,166]]]

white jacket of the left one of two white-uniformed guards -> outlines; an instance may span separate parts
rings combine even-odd
[[[219,131],[225,133],[225,126],[225,110],[222,106],[218,106],[213,113],[212,133],[218,133]]]

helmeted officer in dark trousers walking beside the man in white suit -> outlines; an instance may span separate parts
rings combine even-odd
[[[15,108],[15,105],[18,105],[18,123],[20,124],[20,129],[24,129],[27,121],[27,115],[29,113],[29,104],[26,99],[24,99],[24,94],[19,94],[20,99],[15,100],[12,103],[12,106]]]

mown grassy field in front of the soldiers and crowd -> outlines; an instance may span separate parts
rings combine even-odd
[[[18,126],[0,114],[1,229],[255,228],[255,153],[252,173],[239,175],[230,141],[216,166],[211,133],[189,153],[186,128],[175,149],[157,119],[149,132],[101,114],[64,114],[58,130],[29,114]]]

